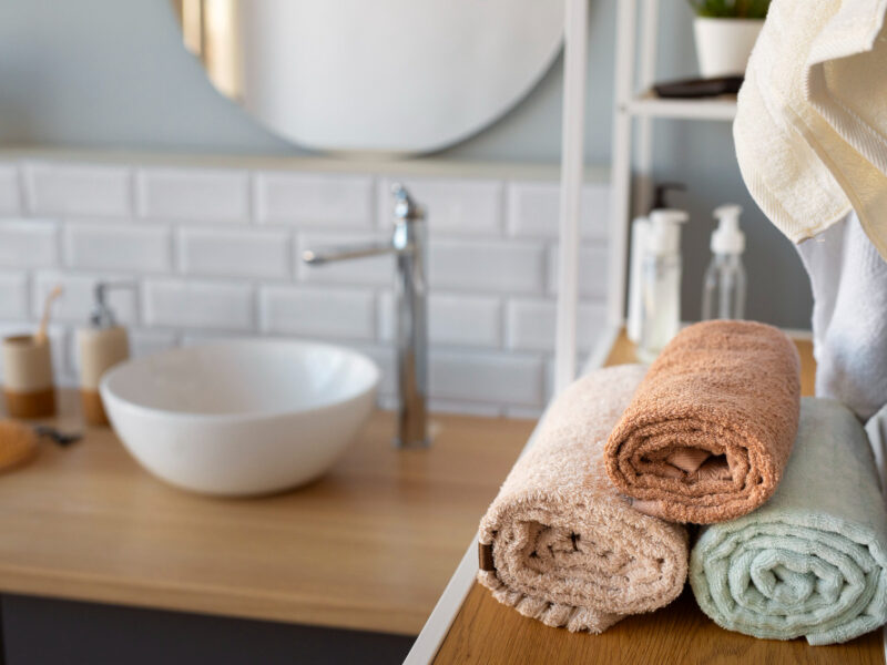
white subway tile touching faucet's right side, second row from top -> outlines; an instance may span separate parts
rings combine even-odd
[[[546,253],[541,244],[437,241],[429,248],[431,288],[496,293],[541,293]]]

